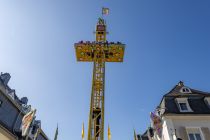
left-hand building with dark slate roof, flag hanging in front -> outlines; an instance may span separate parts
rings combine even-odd
[[[0,75],[0,140],[48,140],[28,99],[19,99],[8,86],[10,78],[8,73]]]

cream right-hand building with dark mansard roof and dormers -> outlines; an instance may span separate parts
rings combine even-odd
[[[179,82],[150,114],[142,140],[210,140],[210,93]]]

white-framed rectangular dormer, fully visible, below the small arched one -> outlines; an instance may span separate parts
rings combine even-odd
[[[180,112],[192,112],[187,98],[176,98],[176,101]]]

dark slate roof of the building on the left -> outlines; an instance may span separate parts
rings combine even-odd
[[[13,135],[22,137],[20,125],[22,123],[22,117],[26,112],[23,112],[22,104],[24,103],[17,97],[14,92],[15,90],[8,86],[10,77],[8,73],[0,74],[0,101],[3,102],[0,108],[0,114],[2,114],[0,115],[0,127],[6,129]],[[26,106],[26,104],[24,105]],[[49,139],[42,129],[40,132],[43,140]]]

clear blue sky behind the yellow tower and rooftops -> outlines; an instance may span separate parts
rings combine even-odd
[[[0,71],[27,96],[42,128],[60,140],[81,139],[87,124],[91,63],[76,62],[74,43],[94,40],[101,7],[108,40],[126,44],[124,63],[106,65],[105,138],[144,132],[149,112],[183,80],[210,91],[209,0],[1,0]]]

